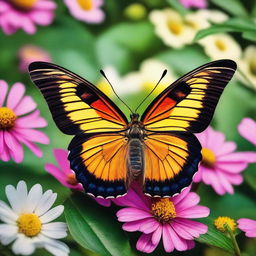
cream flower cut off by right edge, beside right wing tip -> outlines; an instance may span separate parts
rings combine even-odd
[[[243,57],[238,65],[246,78],[254,86],[254,89],[256,89],[256,46],[249,45],[245,48]],[[248,81],[243,77],[238,76],[238,78],[244,84],[248,84]]]

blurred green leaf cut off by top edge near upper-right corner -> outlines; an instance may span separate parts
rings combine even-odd
[[[238,17],[248,17],[248,12],[239,0],[211,0],[212,3]]]

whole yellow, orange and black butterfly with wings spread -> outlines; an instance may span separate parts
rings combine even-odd
[[[205,64],[128,121],[89,81],[55,64],[29,66],[58,128],[75,135],[68,159],[77,180],[86,193],[101,198],[125,195],[133,181],[154,197],[174,196],[188,187],[202,159],[194,133],[209,125],[235,70],[232,60]]]

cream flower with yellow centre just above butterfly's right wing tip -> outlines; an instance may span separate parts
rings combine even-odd
[[[205,53],[213,60],[232,59],[239,60],[242,49],[240,45],[228,34],[215,34],[198,41]]]

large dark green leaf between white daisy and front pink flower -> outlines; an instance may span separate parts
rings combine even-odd
[[[131,256],[129,241],[115,216],[82,193],[65,202],[65,216],[73,238],[84,248],[106,256]]]

